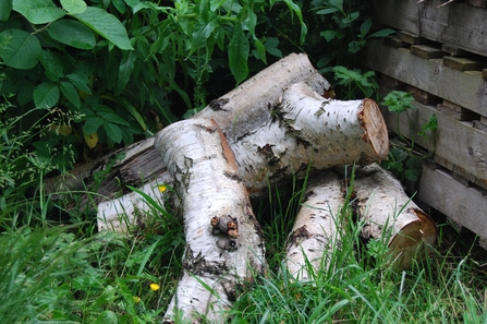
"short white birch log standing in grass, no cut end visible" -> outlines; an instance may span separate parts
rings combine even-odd
[[[343,235],[339,219],[343,203],[336,172],[328,171],[308,183],[285,248],[285,264],[296,280],[313,280],[317,271],[328,269]]]

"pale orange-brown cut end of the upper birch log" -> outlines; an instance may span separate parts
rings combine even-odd
[[[363,139],[370,144],[373,153],[376,154],[369,161],[377,160],[377,157],[386,159],[389,152],[389,136],[386,121],[376,101],[364,99],[361,120],[365,131]]]

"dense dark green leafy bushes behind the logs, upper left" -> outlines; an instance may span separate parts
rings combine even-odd
[[[249,61],[282,56],[279,39],[263,36],[272,8],[297,17],[304,41],[303,13],[292,0],[2,1],[0,93],[11,103],[5,116],[56,111],[76,139],[69,140],[77,143],[72,155],[82,159],[149,136],[197,112],[210,93],[222,94],[215,88],[244,81]],[[37,116],[12,131],[28,131]],[[24,145],[37,152],[38,140]],[[63,149],[61,140],[42,139],[54,145],[51,151]]]

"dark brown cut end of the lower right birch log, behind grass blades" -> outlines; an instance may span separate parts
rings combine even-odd
[[[413,260],[421,260],[436,241],[436,226],[433,219],[418,208],[411,213],[417,216],[416,221],[404,226],[389,242],[390,261],[398,268],[409,268]]]

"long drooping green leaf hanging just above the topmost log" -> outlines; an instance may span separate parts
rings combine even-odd
[[[248,39],[242,31],[242,25],[236,24],[233,37],[229,43],[229,67],[238,83],[247,77],[248,74]]]

